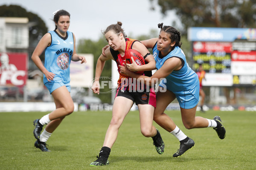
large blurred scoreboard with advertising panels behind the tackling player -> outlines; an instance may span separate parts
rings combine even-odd
[[[256,85],[256,29],[204,28],[188,30],[193,69],[202,64],[205,86]]]

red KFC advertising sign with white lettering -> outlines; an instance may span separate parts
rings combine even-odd
[[[0,53],[0,85],[26,85],[26,53]]]

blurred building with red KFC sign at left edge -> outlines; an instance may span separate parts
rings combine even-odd
[[[0,17],[0,99],[27,100],[29,26],[26,17]]]

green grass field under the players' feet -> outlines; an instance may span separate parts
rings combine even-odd
[[[187,130],[179,111],[166,111],[195,147],[173,158],[178,140],[163,128],[165,152],[157,154],[151,138],[140,133],[137,111],[128,113],[111,149],[110,164],[90,167],[102,147],[111,112],[75,112],[67,116],[47,144],[52,152],[34,147],[33,120],[46,113],[0,113],[0,170],[255,170],[256,113],[244,111],[197,112],[212,119],[221,116],[226,138],[218,138],[212,128]]]

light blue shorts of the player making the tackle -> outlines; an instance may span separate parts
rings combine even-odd
[[[166,85],[166,83],[164,83],[163,81],[160,82],[159,86],[163,88],[167,87],[169,91],[172,91],[170,88],[168,88],[168,85]],[[193,88],[189,90],[172,91],[172,93],[175,94],[180,104],[180,108],[191,109],[191,108],[194,108],[199,102],[199,90],[200,90],[200,87],[198,83],[198,85],[195,85]]]

